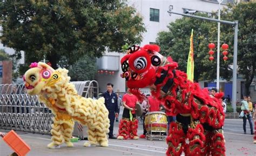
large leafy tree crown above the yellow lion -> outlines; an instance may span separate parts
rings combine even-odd
[[[121,51],[125,43],[140,43],[142,17],[124,1],[6,1],[0,2],[0,39],[26,63],[46,57],[54,68],[61,56],[75,63],[83,55],[100,57]]]

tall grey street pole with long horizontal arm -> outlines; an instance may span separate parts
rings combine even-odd
[[[233,55],[233,83],[232,83],[232,107],[233,112],[237,112],[237,41],[238,41],[238,21],[224,21],[220,19],[214,19],[214,18],[207,18],[207,17],[201,17],[201,16],[194,16],[194,15],[188,15],[185,13],[178,13],[173,12],[172,9],[169,7],[169,10],[167,11],[169,13],[169,16],[173,14],[181,15],[185,17],[192,17],[192,18],[199,18],[206,21],[212,21],[212,22],[218,22],[223,24],[229,24],[234,26],[234,55]],[[219,40],[218,40],[219,43]],[[219,47],[219,45],[218,45]],[[218,57],[219,58],[219,57]]]

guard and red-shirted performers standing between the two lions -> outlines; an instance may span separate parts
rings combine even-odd
[[[165,111],[167,116],[167,125],[176,120],[176,117],[171,116],[170,110],[164,107],[161,102],[150,94],[146,95],[146,100],[143,100],[142,103],[139,103],[136,96],[134,96],[129,89],[127,93],[120,96],[118,93],[113,92],[113,84],[107,84],[107,91],[103,93],[105,98],[105,105],[109,110],[109,119],[110,119],[110,132],[109,139],[138,139],[146,138],[146,127],[145,127],[145,116],[148,112],[158,112]],[[143,116],[143,134],[139,137],[137,135],[138,121],[136,121],[136,104],[142,105],[142,116]],[[113,125],[114,119],[119,121],[120,107],[123,106],[123,116],[119,123],[119,134],[117,137],[113,135]],[[129,126],[129,127],[127,127]],[[167,128],[167,129],[168,129]]]

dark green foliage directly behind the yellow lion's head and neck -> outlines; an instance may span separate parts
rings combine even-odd
[[[96,58],[84,56],[69,67],[72,81],[93,80],[97,73]]]

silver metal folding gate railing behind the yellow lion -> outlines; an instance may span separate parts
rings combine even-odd
[[[98,98],[98,83],[72,82],[78,94]],[[0,128],[50,134],[52,113],[37,96],[25,92],[24,84],[0,85]]]

